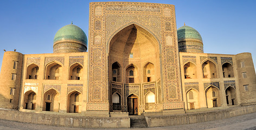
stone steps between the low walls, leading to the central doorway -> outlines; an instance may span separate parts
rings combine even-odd
[[[130,128],[146,128],[148,124],[146,124],[145,116],[142,115],[130,115]]]

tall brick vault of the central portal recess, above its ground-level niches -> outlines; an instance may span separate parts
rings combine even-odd
[[[121,75],[123,82],[129,83],[126,75],[127,68],[125,68],[129,64],[136,64],[138,70],[142,71],[135,72],[138,74],[137,78],[135,77],[135,83],[144,82],[143,63],[148,61],[154,63],[155,79],[160,78],[159,43],[151,32],[137,24],[131,24],[113,34],[108,44],[109,67],[112,67],[112,63],[116,61],[122,61],[119,63],[120,67],[123,67],[124,73]],[[111,75],[112,69],[109,70]]]

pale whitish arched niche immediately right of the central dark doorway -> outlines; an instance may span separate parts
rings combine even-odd
[[[145,109],[153,110],[155,109],[155,94],[152,92],[148,92],[145,95]]]

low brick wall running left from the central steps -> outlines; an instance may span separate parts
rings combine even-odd
[[[79,115],[20,112],[0,109],[0,119],[32,124],[85,128],[129,128],[130,118],[98,118]]]

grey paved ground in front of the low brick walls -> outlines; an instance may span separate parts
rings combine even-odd
[[[63,129],[87,129],[87,130],[95,130],[95,128],[70,128],[70,127],[56,127],[56,126],[46,126],[46,125],[36,125],[36,124],[25,124],[21,122],[15,122],[15,121],[7,121],[7,120],[0,120],[0,129],[11,129],[11,130],[18,130],[18,129],[57,129],[57,130],[63,130]],[[189,124],[189,125],[180,125],[180,126],[167,126],[167,127],[153,127],[153,128],[136,128],[136,129],[153,129],[153,130],[165,130],[165,129],[245,129],[245,130],[253,130],[256,129],[256,113],[242,115],[242,116],[236,116],[229,119],[223,119],[223,120],[216,120],[216,121],[208,121],[208,122],[201,122],[197,124]],[[110,130],[110,129],[104,129],[104,130]],[[113,129],[112,129],[113,130]],[[118,129],[114,129],[118,130]],[[127,130],[121,129],[121,130]],[[129,129],[131,130],[131,129]]]

